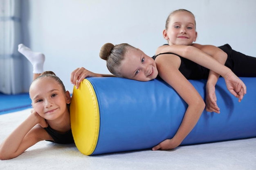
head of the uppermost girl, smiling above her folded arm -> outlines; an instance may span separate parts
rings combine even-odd
[[[163,35],[169,45],[192,45],[197,38],[194,15],[186,11],[173,13]]]

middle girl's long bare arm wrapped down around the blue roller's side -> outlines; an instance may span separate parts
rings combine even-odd
[[[171,57],[170,57],[171,56]],[[181,60],[173,54],[162,54],[155,59],[159,76],[171,85],[188,104],[179,129],[172,139],[166,139],[152,150],[169,150],[181,144],[198,122],[204,110],[204,100],[193,85],[178,70]]]

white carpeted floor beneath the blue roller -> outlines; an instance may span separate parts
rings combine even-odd
[[[30,109],[25,109],[0,115],[0,142],[29,114]],[[74,144],[42,141],[14,159],[0,161],[0,169],[255,170],[256,138],[95,156],[81,154]]]

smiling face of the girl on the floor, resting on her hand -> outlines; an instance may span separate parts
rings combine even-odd
[[[67,110],[69,92],[64,92],[56,80],[43,77],[34,81],[29,89],[34,110],[46,120],[55,120]]]

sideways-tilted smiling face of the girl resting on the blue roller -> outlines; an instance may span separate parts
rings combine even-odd
[[[123,77],[137,81],[150,81],[158,75],[154,59],[134,48],[126,52],[119,68]]]

